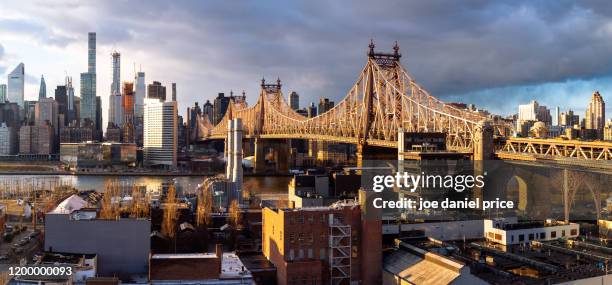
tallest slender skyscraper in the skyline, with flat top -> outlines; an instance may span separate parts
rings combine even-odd
[[[81,104],[80,118],[81,120],[90,120],[92,123],[97,122],[96,117],[96,33],[88,34],[87,42],[87,72],[81,73]],[[101,124],[100,124],[101,125]],[[98,132],[101,126],[96,126]]]

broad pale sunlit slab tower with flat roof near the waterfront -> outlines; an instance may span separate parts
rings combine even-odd
[[[145,99],[143,154],[146,166],[176,167],[178,111],[176,101]]]

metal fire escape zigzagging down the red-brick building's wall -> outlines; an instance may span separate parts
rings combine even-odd
[[[351,282],[351,226],[329,215],[329,272],[330,283]]]

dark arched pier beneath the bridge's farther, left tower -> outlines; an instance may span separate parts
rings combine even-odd
[[[276,173],[289,172],[289,142],[286,139],[256,138],[254,144],[254,173],[264,173],[274,170]],[[274,169],[269,169],[266,156],[270,154],[274,160]]]

